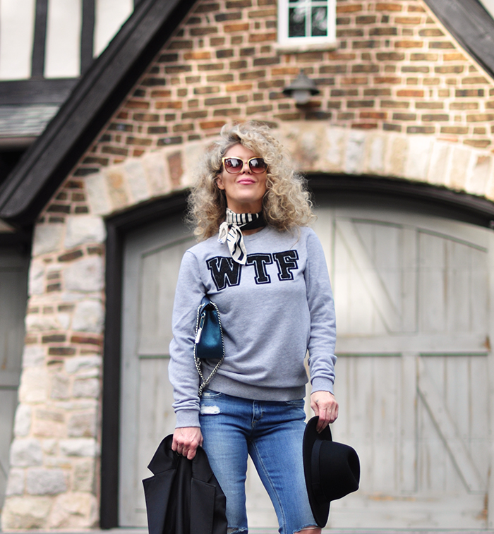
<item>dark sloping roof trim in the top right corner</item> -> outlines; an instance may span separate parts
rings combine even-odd
[[[478,0],[425,0],[466,52],[494,78],[494,20]]]

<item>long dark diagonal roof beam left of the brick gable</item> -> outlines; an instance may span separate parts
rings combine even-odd
[[[141,2],[9,176],[0,218],[36,219],[194,2]]]

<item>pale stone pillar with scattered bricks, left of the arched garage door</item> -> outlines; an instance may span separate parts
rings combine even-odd
[[[98,520],[104,222],[39,224],[2,528]]]

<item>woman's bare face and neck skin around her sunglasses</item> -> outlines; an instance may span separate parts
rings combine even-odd
[[[258,157],[252,150],[240,143],[229,148],[224,157],[243,159],[243,168],[239,174],[230,174],[224,166],[216,178],[219,189],[227,196],[227,206],[235,213],[259,213],[263,210],[263,196],[266,193],[267,170],[253,173],[247,162],[251,157]]]

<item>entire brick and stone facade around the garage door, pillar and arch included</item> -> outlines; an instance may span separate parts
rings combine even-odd
[[[186,188],[232,120],[272,123],[303,171],[494,200],[494,85],[422,0],[337,1],[337,49],[276,46],[275,0],[200,0],[35,229],[4,530],[97,524],[104,219]],[[304,68],[321,90],[282,95]],[[372,178],[369,178],[372,179]]]

